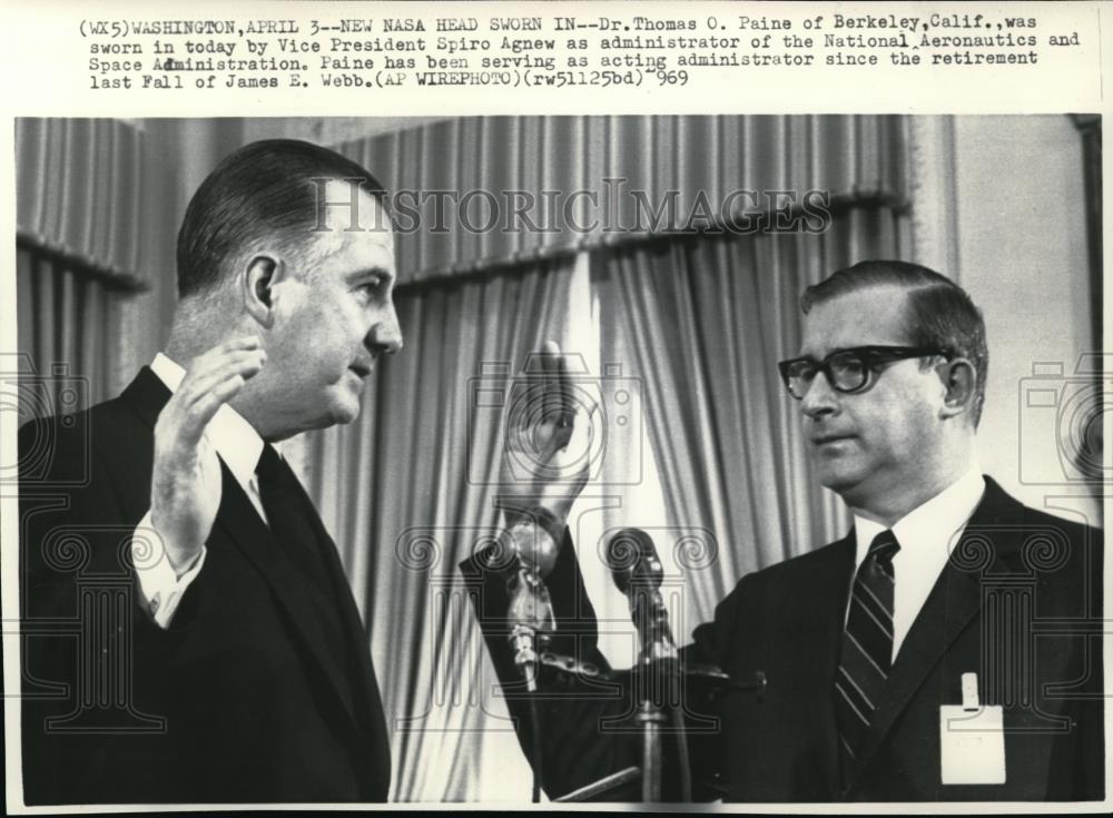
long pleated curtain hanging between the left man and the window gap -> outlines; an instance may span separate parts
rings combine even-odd
[[[543,341],[567,342],[574,268],[541,262],[401,294],[404,352],[376,367],[354,425],[309,441],[308,486],[363,608],[390,720],[392,800],[499,800],[529,785],[456,565],[495,524],[502,413],[476,405],[476,390],[508,386]]]

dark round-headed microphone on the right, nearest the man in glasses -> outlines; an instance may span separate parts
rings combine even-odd
[[[649,661],[676,659],[677,643],[659,590],[664,568],[652,538],[641,529],[622,529],[608,541],[604,559],[615,587],[630,600],[643,654]]]

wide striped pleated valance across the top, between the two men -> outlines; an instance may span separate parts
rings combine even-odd
[[[397,255],[400,280],[413,282],[644,235],[631,191],[649,203],[676,191],[681,214],[703,196],[718,217],[723,203],[749,204],[737,189],[903,201],[904,145],[895,116],[466,117],[337,149],[418,203],[406,199],[421,229]],[[508,217],[514,191],[534,196],[542,229]],[[469,229],[491,221],[491,197],[503,218]]]

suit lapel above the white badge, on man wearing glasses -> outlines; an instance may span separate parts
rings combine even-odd
[[[1017,520],[1023,506],[993,480],[985,480],[982,502],[897,653],[885,699],[874,712],[858,757],[859,770],[866,768],[928,673],[982,609],[982,578],[1012,570],[1017,529],[1002,525],[1002,521]]]

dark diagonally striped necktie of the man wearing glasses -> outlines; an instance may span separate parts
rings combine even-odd
[[[892,531],[875,536],[850,589],[835,679],[835,717],[845,773],[857,766],[857,753],[888,683],[893,658],[893,555],[899,550]]]

